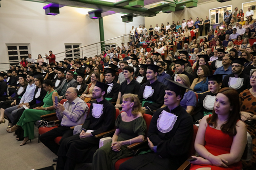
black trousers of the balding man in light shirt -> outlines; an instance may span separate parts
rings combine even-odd
[[[54,142],[54,139],[61,137],[60,144],[62,141],[70,136],[73,136],[73,130],[70,127],[61,126],[50,130],[40,136],[40,141],[47,146],[55,155],[57,155],[60,145]]]

